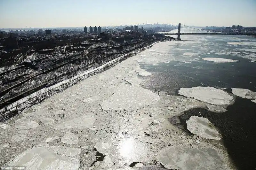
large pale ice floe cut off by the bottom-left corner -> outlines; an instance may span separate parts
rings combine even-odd
[[[26,166],[26,170],[77,170],[80,152],[80,148],[36,146],[17,156],[10,166]]]

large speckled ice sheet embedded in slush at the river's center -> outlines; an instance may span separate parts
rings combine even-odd
[[[155,104],[159,95],[138,86],[121,86],[112,97],[100,105],[103,110],[133,109],[140,106]]]

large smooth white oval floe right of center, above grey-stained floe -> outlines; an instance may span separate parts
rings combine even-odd
[[[233,97],[227,92],[214,87],[180,88],[179,94],[216,105],[229,105],[233,102]]]

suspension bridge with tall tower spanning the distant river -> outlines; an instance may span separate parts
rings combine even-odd
[[[178,35],[177,39],[180,40],[180,35],[255,35],[255,33],[225,33],[225,32],[212,32],[208,30],[189,27],[183,24],[178,25],[178,29],[173,29],[172,33],[163,33],[164,35]]]

